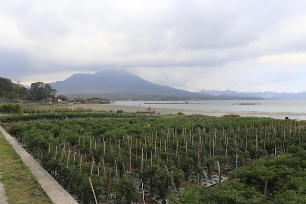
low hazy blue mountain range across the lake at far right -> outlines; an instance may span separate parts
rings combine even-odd
[[[277,93],[271,91],[265,92],[238,92],[238,91],[206,91],[202,90],[199,93],[209,94],[214,96],[229,96],[229,97],[257,97],[263,99],[306,99],[306,91],[300,93]]]

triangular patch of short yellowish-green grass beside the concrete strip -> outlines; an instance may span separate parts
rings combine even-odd
[[[52,204],[30,169],[0,133],[0,172],[9,204]]]

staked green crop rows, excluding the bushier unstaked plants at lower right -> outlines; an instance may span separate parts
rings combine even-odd
[[[58,113],[49,114],[43,114],[48,120],[14,123],[9,132],[83,203],[95,199],[88,178],[98,199],[112,195],[117,203],[135,202],[134,177],[164,198],[172,184],[179,191],[191,171],[201,178],[205,170],[210,177],[218,161],[221,170],[230,166],[237,175],[248,161],[304,144],[306,135],[302,121],[271,118],[117,113],[99,118],[95,114],[102,113],[84,112],[69,113],[68,118],[92,117],[59,121],[52,118]]]

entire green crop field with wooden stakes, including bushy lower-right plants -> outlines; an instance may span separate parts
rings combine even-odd
[[[306,202],[305,121],[84,107],[0,119],[79,203]]]

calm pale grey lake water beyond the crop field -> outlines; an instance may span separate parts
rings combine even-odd
[[[174,109],[186,114],[272,117],[306,120],[306,100],[116,101],[114,106]],[[178,113],[177,112],[177,113]]]

